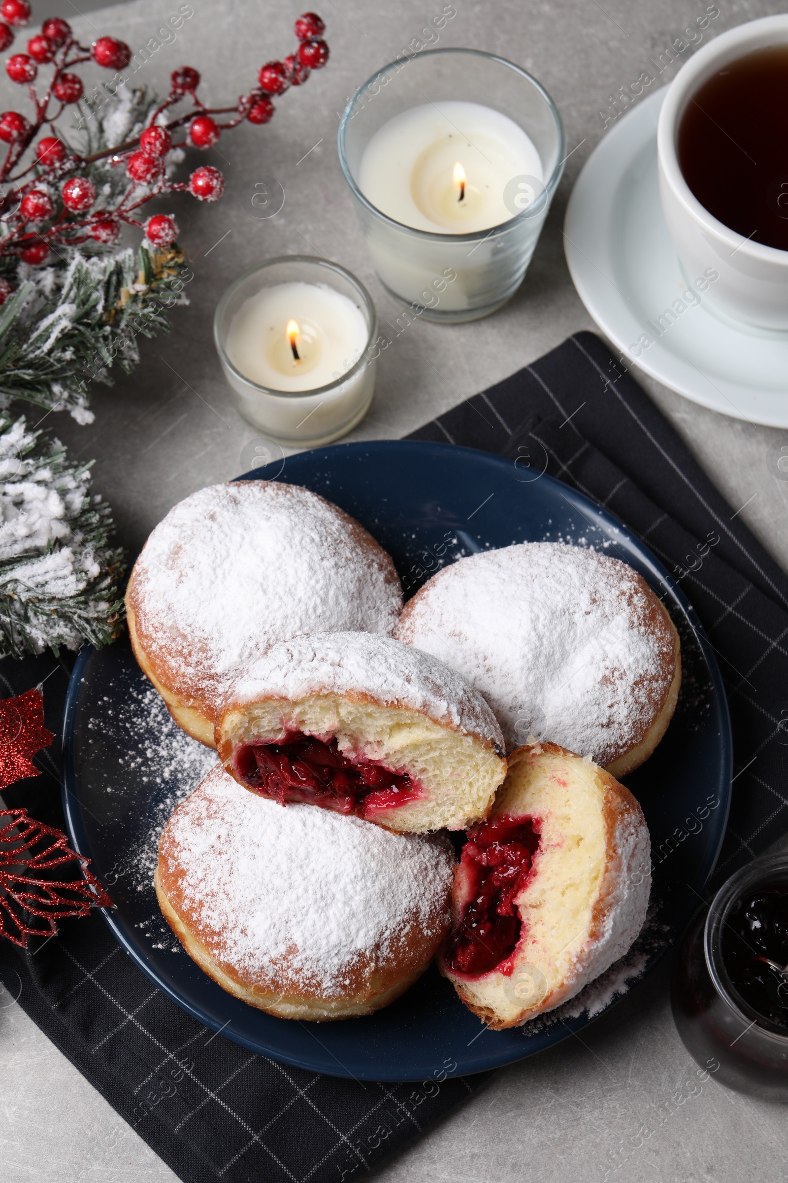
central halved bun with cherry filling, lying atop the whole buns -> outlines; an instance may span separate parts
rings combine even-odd
[[[372,633],[274,645],[233,689],[216,748],[239,784],[280,804],[412,833],[486,817],[507,767],[495,716],[461,674]]]

